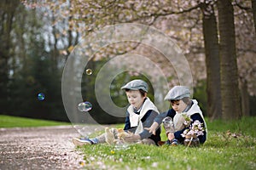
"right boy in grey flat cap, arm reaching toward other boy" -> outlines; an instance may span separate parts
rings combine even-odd
[[[172,109],[157,116],[151,127],[146,128],[148,132],[154,134],[155,130],[160,127],[160,123],[163,122],[168,138],[166,144],[176,145],[183,143],[182,133],[189,128],[190,123],[199,121],[203,123],[202,125],[205,128],[204,134],[198,136],[200,143],[203,144],[207,140],[207,124],[197,101],[189,97],[189,88],[184,86],[173,87],[165,97],[165,100],[170,101]],[[186,122],[185,116],[189,117],[191,122]]]

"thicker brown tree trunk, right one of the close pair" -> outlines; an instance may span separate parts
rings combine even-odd
[[[231,0],[218,0],[218,30],[222,116],[224,120],[241,116],[236,63],[234,9]]]

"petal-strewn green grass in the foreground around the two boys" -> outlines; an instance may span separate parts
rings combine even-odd
[[[80,165],[84,169],[256,169],[255,122],[256,117],[207,122],[207,142],[197,148],[131,144],[117,150],[108,144],[85,145],[78,148],[84,152]]]

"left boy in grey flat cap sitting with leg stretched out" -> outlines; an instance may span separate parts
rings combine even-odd
[[[73,144],[117,144],[119,137],[121,142],[125,143],[142,143],[158,144],[160,141],[160,128],[154,130],[154,134],[149,133],[144,127],[150,127],[154,118],[159,115],[159,111],[154,103],[147,97],[148,84],[143,80],[133,80],[128,82],[121,89],[125,90],[130,105],[126,111],[125,127],[120,129],[108,127],[105,133],[93,139],[73,139]]]

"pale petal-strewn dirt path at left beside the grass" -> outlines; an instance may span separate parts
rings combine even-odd
[[[78,136],[72,126],[0,128],[0,169],[81,169],[83,155],[72,143]]]

